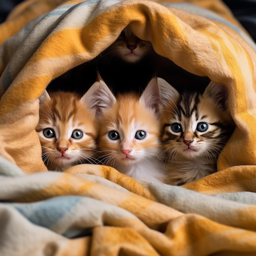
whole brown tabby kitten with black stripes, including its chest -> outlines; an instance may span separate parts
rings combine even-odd
[[[166,92],[167,93],[167,92]],[[217,158],[234,131],[224,85],[210,82],[203,93],[170,85],[162,114],[162,143],[167,153],[167,184],[193,182],[217,171]]]

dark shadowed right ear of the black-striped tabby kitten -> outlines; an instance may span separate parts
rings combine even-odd
[[[203,96],[211,97],[222,110],[228,109],[229,91],[225,85],[211,81],[204,91]]]

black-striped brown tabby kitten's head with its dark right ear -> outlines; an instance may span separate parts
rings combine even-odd
[[[170,101],[162,117],[169,160],[216,158],[234,129],[225,93],[223,86],[210,83],[204,94],[184,92]]]

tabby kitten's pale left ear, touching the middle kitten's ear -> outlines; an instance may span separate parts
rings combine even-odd
[[[180,98],[180,93],[161,77],[157,77],[157,84],[161,108],[167,106],[171,101],[175,102]]]

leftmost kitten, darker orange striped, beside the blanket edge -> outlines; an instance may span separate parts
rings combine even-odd
[[[65,171],[77,164],[96,163],[96,121],[87,101],[70,92],[45,92],[40,96],[39,122],[36,126],[42,158],[48,170]]]

